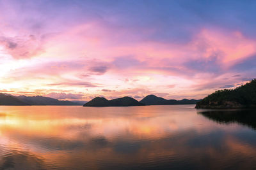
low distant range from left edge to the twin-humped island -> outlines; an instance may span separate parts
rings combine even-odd
[[[12,96],[9,94],[0,94],[0,105],[8,106],[82,106],[85,101],[59,101],[57,99],[52,99],[51,97],[44,96]]]

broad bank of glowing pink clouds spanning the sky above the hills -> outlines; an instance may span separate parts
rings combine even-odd
[[[20,81],[20,88],[25,89],[26,81],[34,80],[35,86],[42,89],[58,86],[86,91],[88,96],[96,95],[102,88],[111,90],[101,91],[108,92],[106,97],[145,96],[152,92],[170,96],[175,91],[186,94],[189,88],[201,95],[198,91],[205,93],[204,90],[241,82],[221,78],[227,73],[237,74],[230,67],[256,53],[256,41],[241,32],[202,29],[182,44],[132,39],[130,30],[103,26],[99,22],[77,24],[45,38],[43,43],[32,36],[2,38],[5,52],[14,59],[37,59],[36,64],[8,71],[5,83]],[[184,87],[175,83],[175,78],[189,84]],[[136,81],[122,81],[125,79]],[[214,83],[216,80],[218,83]]]

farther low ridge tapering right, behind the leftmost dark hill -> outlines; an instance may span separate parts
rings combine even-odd
[[[59,101],[57,99],[52,99],[51,97],[44,96],[17,96],[17,99],[29,105],[56,105],[56,106],[77,106],[81,105],[79,103],[74,103],[71,101]]]

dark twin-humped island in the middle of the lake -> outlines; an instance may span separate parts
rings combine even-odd
[[[143,106],[144,104],[131,97],[122,97],[118,99],[107,100],[104,97],[95,97],[92,101],[83,106],[106,107],[106,106]]]

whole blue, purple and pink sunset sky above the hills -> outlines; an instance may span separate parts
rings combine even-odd
[[[0,0],[0,92],[202,99],[255,78],[256,1]]]

